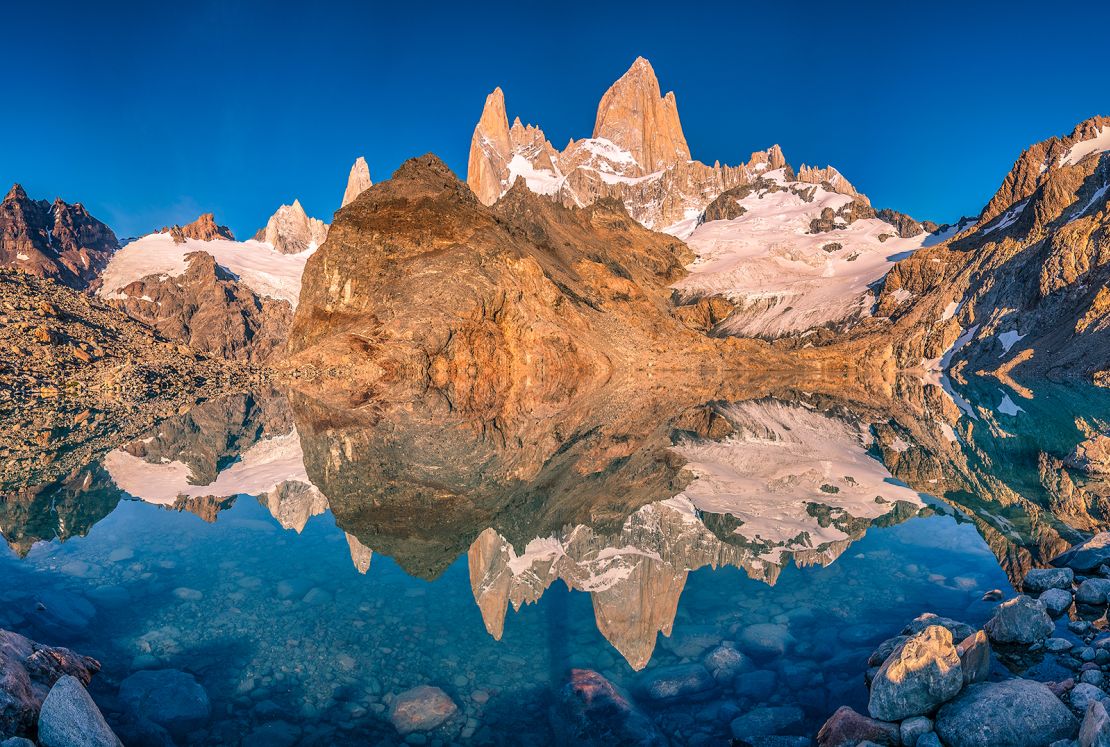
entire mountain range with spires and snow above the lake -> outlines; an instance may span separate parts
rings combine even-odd
[[[675,94],[639,58],[591,137],[562,151],[509,124],[494,90],[465,185],[432,157],[373,185],[360,158],[333,225],[293,200],[248,241],[208,213],[122,248],[80,204],[17,185],[0,262],[196,353],[354,372],[343,386],[415,377],[453,402],[648,361],[1103,382],[1108,149],[1110,120],[1082,122],[1022,153],[977,218],[938,226],[876,210],[837,169],[794,168],[778,145],[738,165],[694,160]],[[616,320],[646,334],[614,343]]]

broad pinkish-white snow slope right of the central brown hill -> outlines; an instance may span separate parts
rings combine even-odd
[[[927,233],[901,239],[877,218],[837,215],[830,230],[815,232],[823,212],[845,212],[855,198],[787,181],[781,169],[765,180],[736,199],[738,218],[668,229],[697,254],[675,287],[687,299],[723,295],[737,304],[720,332],[775,337],[866,316],[870,285],[929,242]]]

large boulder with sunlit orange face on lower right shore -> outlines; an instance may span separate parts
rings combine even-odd
[[[963,686],[952,634],[930,625],[897,648],[871,682],[867,709],[884,721],[931,713]]]

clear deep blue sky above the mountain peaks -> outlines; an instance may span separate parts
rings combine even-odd
[[[465,176],[495,85],[562,148],[638,54],[694,157],[778,142],[878,206],[977,212],[1026,145],[1110,113],[1110,3],[70,2],[4,9],[0,182],[121,235],[214,211],[330,221],[355,157]]]

